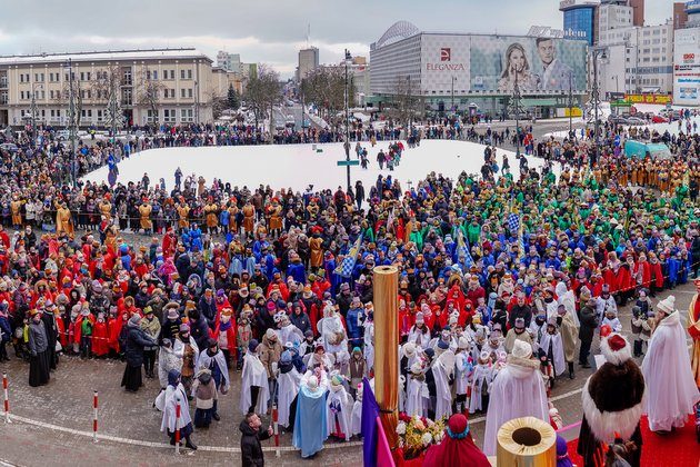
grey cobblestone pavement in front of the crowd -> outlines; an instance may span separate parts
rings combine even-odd
[[[671,292],[663,292],[653,302],[676,295],[677,306],[683,317],[693,296],[692,285],[678,287]],[[620,312],[624,334],[630,331],[630,307]],[[593,351],[598,349],[593,344]],[[10,354],[12,354],[10,351]],[[38,466],[47,461],[56,465],[94,465],[101,460],[121,460],[133,464],[139,459],[143,465],[160,465],[203,460],[208,465],[220,465],[239,460],[240,433],[238,425],[242,418],[238,410],[240,397],[240,375],[232,371],[232,387],[229,394],[220,396],[219,410],[221,421],[214,421],[208,430],[197,430],[194,440],[202,448],[197,453],[182,454],[176,458],[172,448],[167,445],[166,435],[159,431],[161,415],[152,408],[158,395],[157,379],[144,379],[144,387],[133,395],[120,388],[124,364],[116,360],[81,360],[77,357],[62,357],[59,369],[51,375],[51,382],[40,388],[28,386],[28,367],[24,362],[12,359],[0,368],[8,372],[10,380],[11,413],[18,417],[6,425],[0,421],[0,460],[11,464]],[[572,425],[581,419],[580,391],[590,369],[577,366],[576,379],[568,376],[558,379],[552,391],[552,401],[563,417],[564,425]],[[99,393],[99,433],[113,437],[100,439],[93,444],[92,395]],[[263,424],[269,417],[263,417]],[[59,429],[60,428],[60,429]],[[481,445],[484,417],[474,414],[471,428],[477,443]],[[574,426],[563,436],[568,439],[578,437]],[[291,437],[280,436],[280,444],[286,447],[280,459],[273,451],[266,457],[271,465],[298,464],[300,456],[290,447]],[[31,449],[27,447],[31,446]],[[263,448],[273,449],[273,441],[263,441]],[[361,461],[361,447],[358,443],[349,445],[329,441],[327,449],[308,465],[340,465]]]

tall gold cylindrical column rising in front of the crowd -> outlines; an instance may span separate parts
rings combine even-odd
[[[399,270],[378,266],[374,274],[374,395],[389,447],[398,447]]]

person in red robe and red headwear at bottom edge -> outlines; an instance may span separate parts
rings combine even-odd
[[[444,438],[426,453],[423,467],[470,466],[490,467],[491,463],[477,447],[469,433],[467,417],[454,414],[448,420]]]

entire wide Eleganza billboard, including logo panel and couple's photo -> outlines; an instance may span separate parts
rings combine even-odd
[[[523,95],[587,90],[586,41],[534,37],[423,33],[423,95]]]

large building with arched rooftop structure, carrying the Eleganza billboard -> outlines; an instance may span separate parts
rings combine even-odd
[[[583,40],[550,37],[422,32],[399,21],[370,46],[368,103],[382,108],[410,96],[431,111],[512,115],[510,63],[524,54],[521,110],[564,116],[569,93],[577,108],[588,95],[587,48]]]

